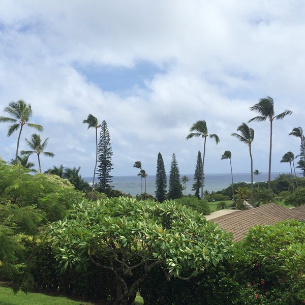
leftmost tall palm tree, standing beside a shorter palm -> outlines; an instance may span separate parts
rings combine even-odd
[[[38,131],[43,131],[43,127],[38,124],[28,123],[28,119],[32,116],[33,111],[31,108],[31,104],[26,104],[22,100],[9,103],[9,106],[5,107],[4,111],[10,113],[13,117],[0,116],[0,122],[14,123],[13,125],[10,126],[7,136],[10,137],[13,134],[13,132],[18,130],[18,128],[20,127],[20,131],[17,139],[16,155],[15,155],[15,163],[17,163],[19,142],[20,142],[20,136],[23,126],[27,124],[28,127],[34,128]]]

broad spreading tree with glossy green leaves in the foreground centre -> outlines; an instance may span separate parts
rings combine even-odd
[[[203,215],[174,202],[118,198],[82,202],[52,225],[52,248],[63,270],[108,270],[116,287],[113,304],[133,300],[157,267],[169,280],[192,278],[230,257],[229,236]]]

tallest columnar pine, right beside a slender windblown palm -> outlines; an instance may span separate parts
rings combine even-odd
[[[112,157],[112,147],[110,144],[110,135],[107,127],[107,123],[103,120],[101,124],[101,132],[100,132],[100,141],[98,147],[98,177],[99,177],[99,188],[103,193],[107,193],[112,186],[110,186],[112,182],[112,177],[110,175],[111,170],[113,169],[111,163]]]

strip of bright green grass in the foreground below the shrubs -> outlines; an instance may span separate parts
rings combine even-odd
[[[88,302],[71,299],[64,296],[53,296],[43,293],[18,292],[14,294],[13,289],[7,283],[0,282],[0,304],[1,305],[104,305],[105,302]],[[143,304],[140,296],[136,297],[136,305]]]

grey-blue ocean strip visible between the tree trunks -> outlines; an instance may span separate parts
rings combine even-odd
[[[271,179],[275,179],[279,174],[283,172],[272,172],[271,173]],[[180,178],[184,176],[185,174],[180,174]],[[302,176],[301,174],[297,174],[299,176]],[[194,191],[192,191],[192,185],[194,183],[194,175],[193,174],[186,174],[190,178],[190,180],[186,183],[186,194],[194,194]],[[204,174],[205,180],[204,180],[204,187],[203,190],[207,190],[209,192],[214,191],[221,191],[223,189],[226,189],[229,187],[232,183],[231,179],[231,173],[225,173],[225,174]],[[92,182],[92,177],[84,177],[85,181]],[[262,172],[258,179],[260,182],[262,181],[268,181],[268,173]],[[113,176],[112,177],[112,186],[115,190],[119,190],[121,192],[124,192],[126,194],[130,194],[132,196],[136,196],[137,194],[141,194],[141,178],[137,175],[133,176]],[[98,178],[95,180],[98,182]],[[251,182],[251,175],[250,173],[233,173],[233,182]],[[257,182],[257,175],[254,175],[253,182]],[[168,185],[168,180],[167,180]],[[146,177],[146,193],[155,196],[156,191],[156,176],[155,175],[148,175]],[[143,179],[143,193],[145,192],[145,186],[144,186],[144,179]],[[184,191],[183,191],[184,193]]]

